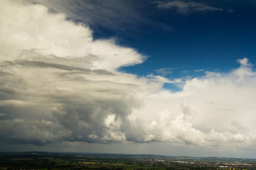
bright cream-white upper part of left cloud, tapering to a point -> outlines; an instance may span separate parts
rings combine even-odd
[[[64,14],[49,14],[43,5],[3,1],[1,12],[0,49],[5,56],[37,49],[44,55],[84,58],[87,67],[106,70],[141,63],[145,58],[134,49],[115,45],[113,39],[93,41],[86,25],[65,20]]]

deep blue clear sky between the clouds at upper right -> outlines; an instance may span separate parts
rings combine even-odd
[[[156,3],[143,1],[139,4],[142,7],[134,10],[150,23],[136,20],[122,23],[118,31],[112,27],[101,28],[101,25],[92,28],[100,29],[94,32],[96,37],[117,37],[121,44],[148,56],[141,65],[122,68],[128,73],[146,75],[171,67],[175,69],[171,76],[180,77],[186,76],[182,71],[200,69],[226,72],[236,68],[235,61],[241,57],[254,62],[255,2],[207,1],[206,4],[223,11],[180,14],[177,7],[158,9]]]

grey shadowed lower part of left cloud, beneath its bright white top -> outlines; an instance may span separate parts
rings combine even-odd
[[[119,123],[126,120],[132,109],[141,106],[140,99],[134,94],[137,86],[89,78],[86,81],[66,80],[66,77],[55,74],[56,68],[70,70],[63,65],[31,61],[13,63],[18,64],[9,65],[9,69],[18,73],[15,76],[9,76],[13,75],[11,73],[1,75],[1,78],[8,75],[1,84],[1,140],[35,145],[125,140]],[[47,75],[42,76],[44,73]],[[76,75],[70,73],[70,77]],[[67,75],[66,72],[60,74]],[[20,82],[24,84],[15,81],[14,77],[22,79]],[[111,115],[114,119],[106,124]]]

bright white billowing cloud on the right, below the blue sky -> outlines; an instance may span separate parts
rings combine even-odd
[[[135,113],[153,127],[151,133],[157,131],[151,134],[152,141],[237,148],[254,145],[256,76],[246,68],[242,65],[229,74],[207,72],[207,76],[187,80],[180,92],[162,90],[147,96],[143,111]]]

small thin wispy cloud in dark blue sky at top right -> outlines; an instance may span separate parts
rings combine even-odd
[[[159,10],[175,9],[182,15],[189,15],[193,12],[223,11],[222,8],[212,7],[198,2],[183,1],[155,1]]]

